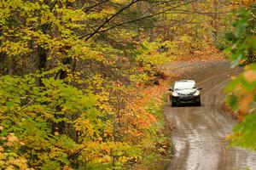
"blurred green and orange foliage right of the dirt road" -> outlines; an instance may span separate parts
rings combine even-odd
[[[236,2],[236,1],[235,1]],[[256,7],[254,1],[241,1],[235,11],[235,21],[230,32],[226,33],[233,66],[240,65],[244,71],[225,88],[230,105],[239,124],[234,127],[231,144],[256,150],[255,139],[255,92],[256,92],[256,46],[255,23]]]

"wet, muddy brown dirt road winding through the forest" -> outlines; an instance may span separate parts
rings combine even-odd
[[[173,67],[183,69],[173,69]],[[168,170],[256,170],[256,152],[226,148],[224,140],[236,123],[221,111],[224,99],[222,89],[230,76],[240,70],[230,69],[229,62],[181,62],[170,65],[169,71],[182,71],[183,79],[195,79],[203,88],[202,106],[171,107],[166,104],[165,114],[176,130],[173,143],[176,154]]]

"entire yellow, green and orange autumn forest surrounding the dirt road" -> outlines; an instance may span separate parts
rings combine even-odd
[[[158,65],[199,51],[246,65],[226,89],[244,121],[229,139],[255,150],[253,3],[2,0],[0,167],[164,167],[172,143],[160,85],[169,77]]]

